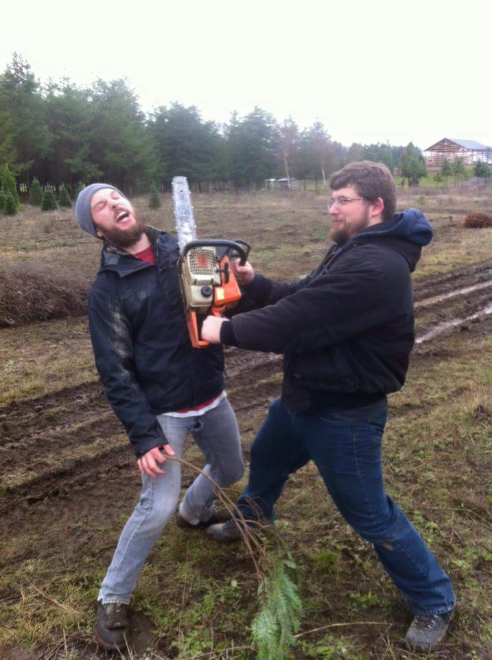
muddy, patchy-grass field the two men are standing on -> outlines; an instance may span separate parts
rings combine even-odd
[[[487,660],[492,230],[460,223],[470,209],[490,210],[491,192],[433,191],[418,203],[419,194],[405,191],[399,208],[424,210],[435,238],[414,274],[417,345],[406,386],[390,397],[386,485],[452,575],[459,599],[449,638],[427,658]],[[327,249],[323,195],[203,195],[194,203],[200,236],[250,241],[250,260],[268,276],[306,274]],[[145,210],[145,200],[139,208],[150,223],[173,229],[169,199],[159,212]],[[99,248],[75,228],[73,213],[27,210],[1,217],[0,226],[4,265],[49,264],[89,285]],[[97,380],[85,318],[0,329],[0,355],[0,659],[102,659],[92,642],[95,597],[139,493],[134,455]],[[246,462],[280,382],[277,356],[226,351]],[[191,444],[187,458],[202,465]],[[185,470],[183,486],[190,481]],[[277,520],[303,597],[293,658],[425,657],[403,647],[410,610],[312,465],[290,480]],[[240,544],[218,547],[172,522],[137,585],[128,657],[252,660],[255,591]]]

